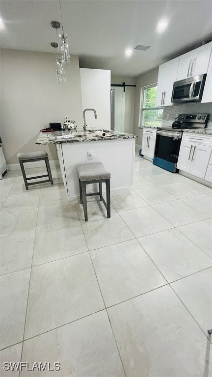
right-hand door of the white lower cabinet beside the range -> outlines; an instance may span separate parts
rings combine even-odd
[[[199,178],[205,178],[211,151],[212,147],[198,144],[194,145],[189,171],[190,174],[193,174]]]

